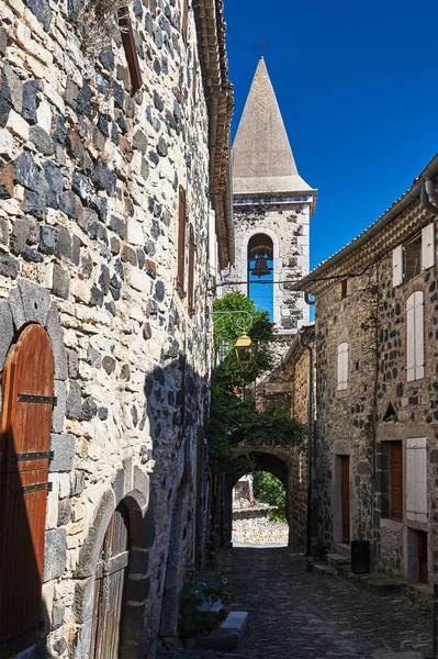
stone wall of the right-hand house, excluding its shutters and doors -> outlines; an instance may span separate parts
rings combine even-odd
[[[414,196],[413,196],[414,198]],[[393,286],[392,248],[412,239],[433,222],[419,199],[405,204],[372,239],[380,255],[355,278],[347,291],[340,283],[316,290],[317,480],[319,539],[340,541],[340,457],[350,456],[350,525],[352,539],[369,539],[373,567],[418,581],[415,567],[417,532],[428,534],[429,579],[436,572],[436,378],[438,351],[435,265],[400,286]],[[436,228],[436,227],[435,227]],[[360,249],[368,249],[366,244]],[[337,268],[360,269],[350,250]],[[362,252],[363,254],[363,252]],[[435,255],[435,258],[437,255]],[[355,265],[356,264],[356,265]],[[333,271],[332,271],[333,272]],[[330,269],[324,272],[330,275]],[[312,287],[310,287],[313,292]],[[315,289],[314,289],[315,290]],[[406,302],[424,292],[425,376],[406,378]],[[347,293],[347,294],[345,294]],[[337,346],[347,342],[349,384],[337,389]],[[427,522],[406,516],[406,440],[427,444]],[[389,518],[389,446],[402,443],[403,517]]]

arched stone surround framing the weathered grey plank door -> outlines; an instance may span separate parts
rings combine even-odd
[[[131,488],[131,489],[130,489]],[[97,611],[97,597],[99,597],[98,581],[102,568],[102,559],[110,561],[103,556],[108,532],[113,523],[116,511],[123,510],[125,520],[126,538],[125,551],[127,556],[117,554],[121,562],[126,562],[123,574],[123,589],[117,593],[123,599],[123,610],[119,619],[119,634],[114,645],[114,655],[108,654],[108,659],[116,657],[143,656],[142,648],[145,645],[145,605],[149,595],[150,580],[148,576],[149,549],[155,540],[154,501],[149,493],[149,479],[138,468],[132,469],[126,463],[121,469],[111,488],[106,489],[94,512],[93,521],[86,541],[80,548],[77,568],[74,573],[75,588],[75,615],[79,627],[75,659],[93,659],[94,616]],[[123,538],[122,538],[123,539]],[[103,549],[103,554],[102,554]],[[106,566],[106,567],[108,567]],[[117,566],[115,566],[117,567]],[[121,578],[119,579],[121,581]],[[103,585],[103,582],[102,582]],[[106,588],[106,584],[104,584]],[[109,583],[109,587],[111,584]],[[111,599],[110,593],[110,599]],[[99,656],[99,655],[98,655]]]

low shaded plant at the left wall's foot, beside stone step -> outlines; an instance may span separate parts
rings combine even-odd
[[[226,618],[232,602],[227,582],[224,573],[211,573],[206,580],[198,572],[191,572],[180,593],[178,627],[181,638],[212,632]],[[222,602],[220,611],[211,611],[218,601]]]

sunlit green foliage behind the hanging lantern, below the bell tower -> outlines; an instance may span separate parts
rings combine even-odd
[[[227,293],[214,301],[216,312],[245,311],[252,317],[252,324],[247,334],[252,342],[251,362],[243,368],[238,365],[234,344],[248,325],[249,317],[239,313],[218,313],[214,315],[214,346],[218,354],[225,353],[225,358],[216,369],[216,382],[223,387],[243,387],[254,382],[256,378],[272,366],[269,343],[272,340],[272,323],[265,310],[256,311],[252,300],[242,292]]]

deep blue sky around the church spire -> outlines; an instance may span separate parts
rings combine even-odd
[[[226,0],[233,136],[260,49],[301,176],[311,265],[374,222],[438,152],[438,3]]]

